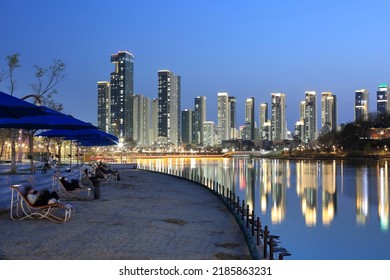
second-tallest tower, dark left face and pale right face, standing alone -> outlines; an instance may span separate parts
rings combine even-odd
[[[180,143],[180,76],[158,71],[158,137],[177,146]]]

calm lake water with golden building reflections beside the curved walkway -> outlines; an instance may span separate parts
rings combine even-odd
[[[295,260],[389,260],[389,161],[139,160],[233,190]]]

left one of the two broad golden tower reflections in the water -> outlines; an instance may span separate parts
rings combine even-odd
[[[317,223],[318,163],[297,161],[297,193],[307,226]]]

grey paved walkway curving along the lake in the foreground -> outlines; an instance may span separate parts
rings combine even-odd
[[[141,170],[104,182],[100,199],[72,201],[65,224],[0,213],[0,259],[251,259],[225,205],[196,183]]]

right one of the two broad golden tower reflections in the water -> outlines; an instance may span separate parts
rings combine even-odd
[[[322,223],[330,225],[337,210],[337,164],[323,162],[321,166],[322,185]]]

